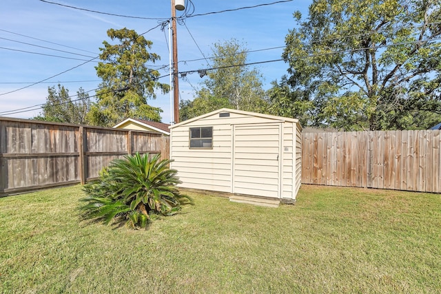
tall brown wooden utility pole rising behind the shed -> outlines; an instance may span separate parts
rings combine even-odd
[[[176,36],[176,9],[183,10],[184,8],[183,6],[175,6],[174,0],[172,0],[173,107],[174,123],[179,123],[178,37]]]

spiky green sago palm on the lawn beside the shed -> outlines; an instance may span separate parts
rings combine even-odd
[[[150,158],[136,153],[113,160],[99,180],[84,186],[88,196],[81,199],[83,216],[106,224],[125,220],[132,228],[145,228],[157,215],[177,213],[190,200],[176,189],[180,181],[169,163],[160,160],[159,154]]]

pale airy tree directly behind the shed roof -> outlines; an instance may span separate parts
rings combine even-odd
[[[180,118],[185,120],[227,107],[249,112],[266,112],[267,101],[261,74],[247,63],[247,48],[236,39],[214,43],[212,67],[206,72],[202,89],[194,101],[181,103]]]

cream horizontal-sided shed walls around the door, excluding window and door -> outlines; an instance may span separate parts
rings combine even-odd
[[[301,155],[298,124],[284,122],[283,118],[278,120],[233,112],[229,112],[229,114],[229,117],[221,118],[216,113],[189,123],[184,122],[183,125],[170,129],[172,135],[170,156],[174,160],[171,167],[178,170],[178,176],[183,182],[178,186],[233,193],[234,125],[278,124],[281,126],[280,169],[269,167],[267,170],[255,171],[256,178],[261,178],[265,173],[280,173],[278,188],[280,198],[295,199],[301,179],[301,175],[297,174],[300,173],[301,159],[297,158]],[[213,127],[213,149],[189,149],[190,127]],[[241,160],[243,165],[246,158]],[[249,160],[249,163],[252,164],[252,159]],[[243,171],[240,172],[243,173]],[[264,182],[265,180],[262,180],[259,184],[264,184]]]

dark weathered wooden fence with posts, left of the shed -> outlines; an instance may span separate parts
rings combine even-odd
[[[170,158],[169,144],[152,132],[0,117],[0,196],[84,184],[125,154]]]

